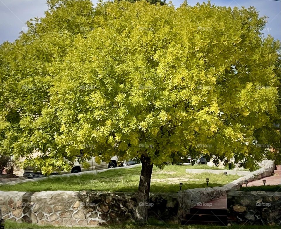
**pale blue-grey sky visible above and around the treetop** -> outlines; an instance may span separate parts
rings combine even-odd
[[[182,2],[183,0],[172,0],[176,7]],[[202,3],[203,0],[188,0],[192,6],[197,2]],[[97,0],[92,0],[92,3],[95,5]],[[281,40],[281,0],[211,0],[211,3],[239,8],[255,6],[260,16],[268,16],[268,24],[263,31],[265,35],[270,34]],[[19,32],[26,29],[26,21],[34,17],[43,17],[46,10],[46,0],[0,0],[0,44],[7,40],[13,42]]]

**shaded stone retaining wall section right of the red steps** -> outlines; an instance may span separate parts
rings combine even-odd
[[[229,223],[281,225],[281,192],[227,194]]]

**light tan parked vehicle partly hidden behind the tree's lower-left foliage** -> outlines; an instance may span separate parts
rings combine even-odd
[[[87,162],[90,164],[89,168],[84,168],[83,165],[80,164],[78,160],[76,160],[74,166],[71,168],[71,171],[53,172],[51,173],[51,175],[58,175],[58,174],[65,174],[65,173],[80,173],[84,171],[99,170],[105,168],[115,168],[117,167],[118,157],[117,156],[112,157],[111,161],[108,164],[104,161],[97,163],[95,161],[95,157],[92,157],[90,160],[87,160]],[[27,178],[44,177],[41,171],[35,171],[35,169],[31,166],[25,168],[23,176]]]

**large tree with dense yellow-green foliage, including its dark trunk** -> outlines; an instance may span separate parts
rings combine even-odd
[[[253,169],[279,154],[280,43],[254,8],[48,4],[0,48],[1,154],[46,174],[80,150],[138,157],[139,222],[153,165],[206,155]]]

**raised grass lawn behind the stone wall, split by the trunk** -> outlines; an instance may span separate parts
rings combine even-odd
[[[209,187],[223,186],[239,175],[217,175],[210,173],[188,174],[187,166],[168,165],[163,170],[153,167],[150,192],[177,192],[179,183],[182,189],[207,187],[205,178],[210,178]],[[98,190],[136,192],[140,180],[141,166],[124,169],[109,169],[98,174],[60,177],[51,176],[49,179],[37,182],[25,182],[16,185],[0,185],[2,191],[55,191],[55,190]]]

